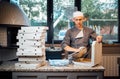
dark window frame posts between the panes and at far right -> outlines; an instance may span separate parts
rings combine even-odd
[[[46,43],[49,44],[60,44],[62,42],[62,40],[53,40],[54,38],[54,28],[53,28],[53,0],[47,0],[48,1],[48,5],[47,5],[47,11],[48,11],[48,20],[47,20],[47,24],[49,27],[49,31],[48,31],[48,39]],[[81,11],[81,0],[74,0],[75,1],[75,7],[78,8],[78,11]],[[114,42],[114,43],[120,43],[120,26],[119,26],[119,19],[120,19],[120,1],[118,0],[118,42]]]

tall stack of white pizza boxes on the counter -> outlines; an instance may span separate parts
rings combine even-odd
[[[46,63],[45,38],[48,27],[21,27],[17,35],[18,68],[37,68]]]

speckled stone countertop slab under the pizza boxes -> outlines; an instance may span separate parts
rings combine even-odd
[[[30,68],[30,69],[25,69],[25,68],[16,68],[15,63],[18,61],[7,61],[3,62],[0,65],[0,71],[104,71],[104,67],[97,65],[94,67],[84,67],[84,66],[74,66],[74,65],[68,65],[68,66],[63,66],[63,67],[55,67],[55,66],[50,66],[49,64],[46,64],[44,66],[38,67],[38,68]]]

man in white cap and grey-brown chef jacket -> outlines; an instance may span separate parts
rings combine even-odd
[[[89,39],[101,42],[102,36],[97,36],[94,30],[83,25],[84,15],[82,12],[74,12],[72,20],[75,26],[66,32],[61,46],[65,51],[78,52],[73,57],[79,58],[87,52]]]

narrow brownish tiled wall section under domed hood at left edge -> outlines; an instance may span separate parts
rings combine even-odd
[[[7,46],[7,28],[0,27],[0,45]]]

